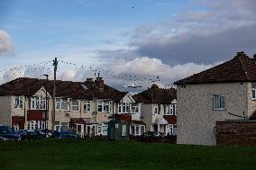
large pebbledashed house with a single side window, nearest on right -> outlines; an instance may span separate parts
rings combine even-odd
[[[216,121],[241,121],[256,111],[256,58],[244,52],[175,82],[178,143],[216,145]]]

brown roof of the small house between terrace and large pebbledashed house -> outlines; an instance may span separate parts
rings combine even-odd
[[[158,85],[151,85],[151,88],[140,94],[133,95],[137,103],[163,103],[169,104],[176,99],[177,92],[174,88],[163,89]]]

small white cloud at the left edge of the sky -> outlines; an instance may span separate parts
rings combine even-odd
[[[14,46],[11,37],[6,31],[0,30],[0,57],[6,53],[12,54]]]

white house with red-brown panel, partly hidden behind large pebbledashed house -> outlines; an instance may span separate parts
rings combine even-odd
[[[142,121],[147,131],[160,131],[166,135],[176,133],[176,89],[163,89],[158,85],[133,95],[136,103],[142,103]]]

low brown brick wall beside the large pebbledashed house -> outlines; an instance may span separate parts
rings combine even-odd
[[[217,121],[217,145],[256,146],[256,121]]]

